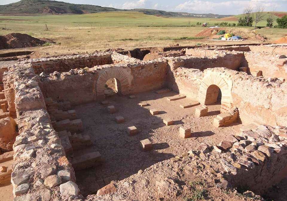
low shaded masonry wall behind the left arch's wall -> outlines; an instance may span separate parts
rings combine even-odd
[[[109,53],[79,54],[63,57],[51,57],[41,59],[31,59],[36,74],[44,72],[45,74],[58,72],[67,72],[74,68],[91,68],[97,65],[112,64],[113,60]]]

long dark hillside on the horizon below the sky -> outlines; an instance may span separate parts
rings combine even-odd
[[[60,15],[60,14],[86,14],[114,11],[135,11],[142,12],[147,15],[161,15],[166,17],[204,17],[204,18],[222,18],[230,15],[215,15],[211,13],[181,13],[167,12],[163,10],[152,9],[132,9],[121,10],[110,7],[101,7],[87,4],[70,4],[62,1],[48,0],[22,0],[16,3],[0,5],[1,15]]]

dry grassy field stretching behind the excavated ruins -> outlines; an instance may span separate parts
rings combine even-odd
[[[0,35],[20,32],[57,42],[53,46],[32,48],[39,50],[41,54],[92,52],[117,47],[129,49],[169,46],[176,43],[180,45],[215,43],[195,37],[197,33],[206,29],[196,26],[197,22],[208,22],[209,25],[213,25],[221,21],[215,18],[164,18],[137,12],[46,16],[1,15]],[[228,23],[236,23],[236,21],[228,21]],[[48,31],[45,30],[45,24],[48,26]],[[5,27],[6,29],[1,30]],[[227,27],[227,29],[231,28],[235,32],[236,30],[250,32],[253,29],[252,27]],[[284,29],[272,28],[262,31],[272,32],[268,36],[271,40],[286,34]]]

